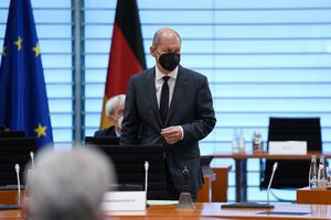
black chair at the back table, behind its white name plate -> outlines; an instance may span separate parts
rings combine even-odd
[[[308,152],[322,151],[320,118],[270,118],[269,141],[307,141]],[[276,161],[266,160],[260,188],[267,188]],[[310,160],[278,160],[271,188],[308,186]]]

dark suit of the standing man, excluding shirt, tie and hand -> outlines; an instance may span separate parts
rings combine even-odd
[[[179,66],[178,78],[164,124],[156,96],[156,67],[130,78],[126,96],[120,142],[163,144],[168,167],[179,191],[183,189],[184,167],[189,168],[189,188],[196,195],[203,184],[199,140],[216,123],[212,95],[205,76]],[[184,138],[169,145],[160,135],[162,128],[181,125]]]

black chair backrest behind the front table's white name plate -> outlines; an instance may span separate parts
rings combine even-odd
[[[148,168],[148,199],[167,199],[166,162],[162,145],[105,145],[92,144],[100,148],[114,162],[119,185],[140,185],[145,188],[145,162]],[[129,187],[130,188],[130,187]]]

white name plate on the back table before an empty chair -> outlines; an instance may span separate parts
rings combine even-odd
[[[269,154],[307,154],[307,141],[270,141]]]

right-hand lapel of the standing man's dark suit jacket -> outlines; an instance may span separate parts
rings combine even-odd
[[[174,90],[173,90],[173,95],[172,95],[172,99],[171,99],[171,103],[170,103],[170,109],[169,109],[169,112],[168,112],[168,116],[166,119],[166,125],[171,120],[175,109],[180,106],[182,96],[186,91],[188,84],[189,84],[188,77],[189,76],[183,70],[183,68],[181,66],[179,66],[178,77],[175,80],[175,86],[174,86]]]

